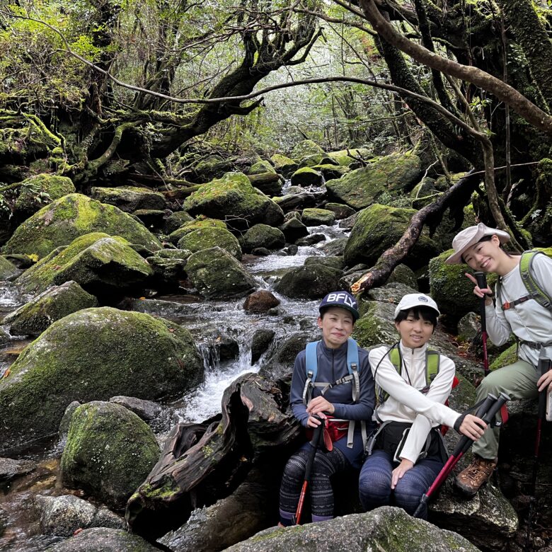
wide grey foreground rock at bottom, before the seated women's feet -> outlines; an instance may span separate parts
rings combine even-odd
[[[226,548],[227,552],[478,552],[463,536],[384,506],[294,527],[272,527]]]

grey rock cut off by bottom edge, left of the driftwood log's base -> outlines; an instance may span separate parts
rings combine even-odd
[[[48,547],[48,552],[159,552],[141,536],[122,529],[93,527],[84,529],[67,541]]]

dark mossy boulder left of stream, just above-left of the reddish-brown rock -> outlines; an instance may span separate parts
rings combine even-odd
[[[202,249],[188,258],[186,272],[207,299],[243,297],[255,287],[255,280],[236,258],[219,247]]]

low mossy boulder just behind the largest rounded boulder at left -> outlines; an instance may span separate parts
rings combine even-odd
[[[40,335],[60,318],[93,306],[98,306],[98,299],[71,280],[49,287],[8,314],[2,323],[8,324],[11,335]]]

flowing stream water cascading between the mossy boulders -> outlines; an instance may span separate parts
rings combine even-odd
[[[273,292],[278,275],[289,268],[303,265],[309,256],[323,255],[323,244],[345,236],[345,232],[337,225],[311,227],[309,234],[324,234],[326,241],[317,243],[316,246],[299,247],[296,255],[272,254],[255,258],[246,256],[244,265],[257,280],[259,288]],[[135,301],[136,310],[168,318],[188,328],[205,360],[205,381],[197,389],[169,405],[173,422],[202,422],[219,413],[226,387],[241,374],[259,371],[270,356],[272,347],[255,364],[251,364],[251,342],[255,330],[273,330],[275,338],[272,343],[277,343],[281,338],[306,327],[314,328],[318,300],[288,299],[276,293],[275,296],[281,303],[274,316],[246,314],[242,308],[243,298],[233,301],[204,301],[194,296],[172,295]],[[18,292],[16,285],[0,282],[0,318],[29,300],[29,296]],[[237,344],[238,354],[233,360],[220,360],[220,344],[228,340]],[[0,376],[9,369],[28,343],[28,338],[11,338],[8,344],[0,346]],[[62,444],[59,442],[29,449],[18,458],[35,462],[35,470],[13,481],[0,481],[1,552],[38,552],[59,539],[40,534],[33,502],[38,494],[81,494],[62,488],[57,478],[61,453]],[[3,524],[6,526],[4,534],[1,531]]]

